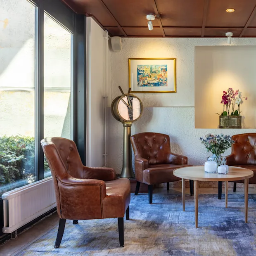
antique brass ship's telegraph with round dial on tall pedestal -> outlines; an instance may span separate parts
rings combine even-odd
[[[127,94],[122,93],[121,96],[116,97],[111,104],[111,113],[117,121],[123,123],[123,168],[121,178],[133,178],[132,167],[132,151],[130,143],[131,126],[142,113],[142,103],[140,99],[130,94],[130,89]]]

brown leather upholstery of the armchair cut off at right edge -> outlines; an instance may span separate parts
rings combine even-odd
[[[256,133],[244,133],[232,136],[232,153],[227,158],[227,165],[247,168],[254,172],[249,179],[250,184],[256,184]],[[243,180],[236,181],[243,183]]]

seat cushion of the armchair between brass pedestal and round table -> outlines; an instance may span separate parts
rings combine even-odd
[[[190,166],[187,164],[154,164],[143,171],[143,183],[148,185],[181,180],[173,175],[177,168]]]

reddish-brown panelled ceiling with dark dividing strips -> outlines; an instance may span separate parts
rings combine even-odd
[[[256,37],[256,0],[63,0],[111,36]],[[228,13],[226,9],[235,12]],[[155,14],[154,29],[147,14]]]

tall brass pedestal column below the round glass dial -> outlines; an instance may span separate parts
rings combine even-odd
[[[123,123],[123,168],[121,178],[133,178],[132,147],[130,143],[132,123]]]

